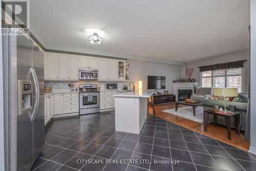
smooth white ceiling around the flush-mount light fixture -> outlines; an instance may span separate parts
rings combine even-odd
[[[47,49],[189,62],[248,49],[249,0],[32,0]],[[102,45],[88,43],[99,29]],[[100,33],[99,33],[100,35]]]

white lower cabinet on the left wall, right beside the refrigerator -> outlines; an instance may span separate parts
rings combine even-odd
[[[54,115],[54,96],[48,96],[45,98],[45,125]]]

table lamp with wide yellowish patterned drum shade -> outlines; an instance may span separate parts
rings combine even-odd
[[[224,111],[228,112],[226,110],[226,97],[238,97],[238,88],[214,88],[214,96],[221,96],[224,98]]]

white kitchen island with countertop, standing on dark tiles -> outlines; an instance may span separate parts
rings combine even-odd
[[[140,134],[147,118],[147,98],[152,91],[130,91],[114,94],[116,131]]]

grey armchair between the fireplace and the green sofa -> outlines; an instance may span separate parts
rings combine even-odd
[[[205,99],[209,99],[209,97],[212,94],[211,87],[195,87],[194,89],[196,89],[196,93],[191,94],[190,99],[205,100]]]

